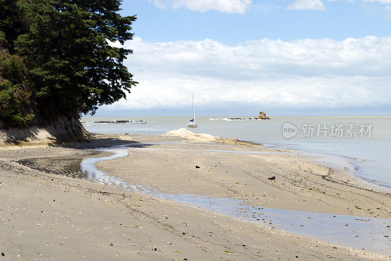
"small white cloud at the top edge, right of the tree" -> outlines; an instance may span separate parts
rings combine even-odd
[[[154,0],[153,4],[160,9],[184,7],[197,12],[215,10],[222,13],[245,14],[251,0]]]

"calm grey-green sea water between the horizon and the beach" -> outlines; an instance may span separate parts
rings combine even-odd
[[[229,120],[229,118],[248,117],[198,117],[197,128],[190,129],[195,133],[208,133],[222,138],[237,138],[243,141],[253,141],[269,146],[296,149],[332,157],[335,161],[346,161],[354,166],[354,175],[359,176],[374,185],[391,188],[391,117],[272,117],[271,120]],[[93,123],[100,120],[131,120],[129,123]],[[135,122],[138,120],[137,122]],[[142,120],[142,121],[140,121]],[[84,126],[89,132],[116,134],[147,134],[161,135],[170,130],[186,127],[189,118],[186,117],[83,117]],[[285,139],[282,126],[289,122],[297,127],[296,136]],[[313,125],[313,135],[302,131],[305,125]],[[318,124],[326,131],[326,137],[321,132],[318,137]],[[326,125],[325,125],[326,124]],[[334,137],[331,126],[342,125],[343,137]],[[350,124],[353,124],[351,126]],[[360,133],[360,125],[365,131],[371,124],[369,133]],[[309,128],[311,128],[309,127]],[[350,132],[357,137],[349,137]],[[338,135],[339,136],[339,135]]]

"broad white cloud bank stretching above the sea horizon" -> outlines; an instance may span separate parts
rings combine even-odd
[[[288,107],[391,105],[391,37],[334,41],[126,42],[139,85],[109,109],[231,104]]]

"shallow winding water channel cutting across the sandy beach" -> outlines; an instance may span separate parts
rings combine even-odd
[[[165,194],[152,190],[148,186],[133,184],[116,178],[95,167],[95,163],[99,161],[107,161],[129,155],[127,151],[129,149],[132,148],[119,146],[97,149],[99,151],[111,152],[113,155],[102,158],[84,159],[80,164],[81,170],[90,181],[109,183],[113,186],[132,189],[143,194],[153,195],[153,197],[185,203],[245,221],[260,222],[270,227],[337,245],[391,255],[391,220],[249,206],[244,201],[229,198],[218,199],[187,194]],[[243,153],[242,151],[218,152]]]

